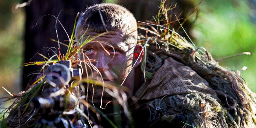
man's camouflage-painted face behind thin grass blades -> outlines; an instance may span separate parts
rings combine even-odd
[[[80,33],[79,35],[82,35],[84,31]],[[83,41],[88,36],[92,38],[99,34],[101,33],[88,30],[83,35]],[[132,44],[129,46],[127,42],[124,42],[123,31],[112,31],[85,44],[80,59],[95,60],[91,63],[102,74],[104,82],[121,85],[126,79],[123,85],[132,89],[134,85],[132,66],[136,42]],[[95,72],[93,74],[98,75]]]

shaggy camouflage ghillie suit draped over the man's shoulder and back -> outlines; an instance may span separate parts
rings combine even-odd
[[[234,71],[177,34],[140,38],[148,79],[135,93],[138,127],[255,128],[255,94]]]

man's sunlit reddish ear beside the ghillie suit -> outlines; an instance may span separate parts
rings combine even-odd
[[[132,59],[132,64],[134,65],[134,68],[136,68],[141,62],[143,58],[143,53],[144,53],[143,47],[140,44],[137,44],[134,48],[133,59]]]

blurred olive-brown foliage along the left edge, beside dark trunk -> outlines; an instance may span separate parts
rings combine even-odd
[[[12,93],[20,92],[23,52],[24,11],[15,10],[19,0],[0,0],[0,86]],[[7,96],[1,88],[0,97]],[[2,99],[0,99],[2,102]],[[9,106],[11,102],[3,106]],[[0,108],[1,110],[1,108]]]

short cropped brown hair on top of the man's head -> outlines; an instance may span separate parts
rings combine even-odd
[[[101,18],[102,16],[102,18]],[[122,30],[128,35],[126,39],[135,36],[137,40],[137,22],[126,8],[110,3],[95,4],[88,7],[84,13],[79,16],[76,24],[75,35],[79,31],[93,29],[97,33]]]

